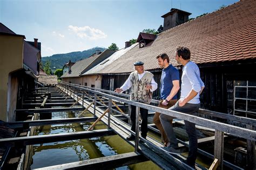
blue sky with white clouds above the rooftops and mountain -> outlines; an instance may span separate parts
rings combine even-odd
[[[143,29],[158,29],[171,8],[192,13],[213,12],[239,0],[0,0],[0,22],[26,40],[38,38],[42,56],[84,51],[127,40]]]

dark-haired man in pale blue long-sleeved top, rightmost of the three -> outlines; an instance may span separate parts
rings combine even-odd
[[[199,94],[201,94],[204,89],[204,83],[200,78],[199,68],[195,63],[190,61],[190,50],[187,47],[179,46],[176,49],[176,60],[179,64],[184,66],[183,74],[181,76],[181,93],[179,101],[169,108],[169,110],[195,115],[200,106]],[[161,124],[170,141],[170,146],[165,147],[164,149],[167,152],[179,153],[179,149],[177,149],[178,141],[173,132],[173,127],[169,123],[172,119],[173,117],[170,117],[169,115],[160,115]],[[194,164],[197,159],[198,146],[196,126],[189,121],[185,120],[184,122],[189,140],[189,152],[185,163],[195,168]]]

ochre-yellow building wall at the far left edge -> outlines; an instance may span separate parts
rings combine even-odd
[[[11,84],[8,81],[11,82],[11,72],[23,67],[23,37],[0,35],[0,56],[0,120],[8,121],[11,103],[11,95],[8,95]]]

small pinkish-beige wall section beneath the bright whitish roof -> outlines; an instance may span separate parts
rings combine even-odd
[[[83,76],[83,84],[89,87],[102,88],[102,76],[101,75],[89,75]]]

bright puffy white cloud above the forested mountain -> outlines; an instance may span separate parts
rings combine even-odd
[[[75,32],[76,35],[80,38],[89,38],[90,40],[97,40],[107,37],[107,35],[103,31],[95,28],[90,28],[90,26],[78,27],[69,25],[68,28],[69,31]]]

